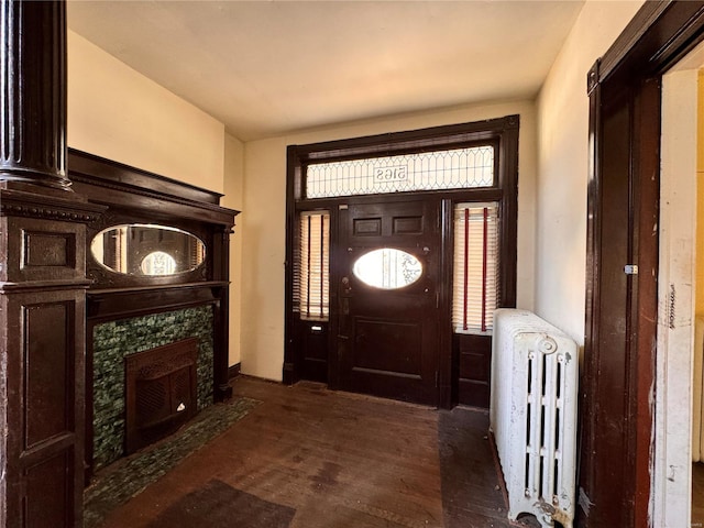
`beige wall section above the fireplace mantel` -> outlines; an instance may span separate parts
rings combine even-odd
[[[223,191],[224,125],[68,32],[68,145]]]

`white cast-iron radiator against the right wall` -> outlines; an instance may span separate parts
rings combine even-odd
[[[490,421],[512,520],[572,527],[578,360],[576,343],[535,314],[496,310]]]

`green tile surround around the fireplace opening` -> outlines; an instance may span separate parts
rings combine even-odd
[[[198,410],[213,400],[213,308],[211,305],[151,314],[94,327],[94,469],[124,454],[127,355],[198,338]]]

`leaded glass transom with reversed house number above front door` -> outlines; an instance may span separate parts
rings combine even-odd
[[[492,145],[310,164],[306,169],[306,198],[493,185]]]

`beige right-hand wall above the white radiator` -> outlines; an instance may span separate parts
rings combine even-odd
[[[584,343],[586,74],[642,4],[587,1],[538,97],[536,311]]]

